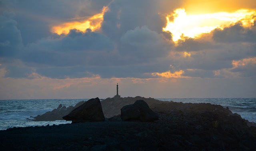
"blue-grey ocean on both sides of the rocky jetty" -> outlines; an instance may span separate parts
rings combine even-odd
[[[161,101],[183,103],[211,103],[229,107],[232,113],[256,123],[256,98],[156,98]],[[15,99],[0,100],[0,130],[12,127],[46,126],[71,123],[71,121],[31,121],[37,115],[52,111],[60,104],[66,107],[88,99]]]

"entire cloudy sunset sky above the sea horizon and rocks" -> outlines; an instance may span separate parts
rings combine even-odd
[[[256,97],[255,0],[0,0],[0,99]]]

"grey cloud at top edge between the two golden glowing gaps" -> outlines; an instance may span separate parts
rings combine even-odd
[[[108,37],[118,40],[128,30],[136,27],[148,26],[152,31],[162,33],[166,24],[166,13],[161,5],[168,1],[161,0],[114,0],[108,5],[108,12],[104,14],[102,31]],[[170,9],[174,6],[169,6]]]

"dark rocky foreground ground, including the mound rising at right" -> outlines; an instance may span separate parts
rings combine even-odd
[[[256,127],[220,105],[158,104],[155,122],[86,122],[0,131],[0,150],[255,151]]]

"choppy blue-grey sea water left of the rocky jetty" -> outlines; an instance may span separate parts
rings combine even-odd
[[[46,126],[71,123],[71,121],[31,121],[31,117],[52,111],[60,104],[66,107],[88,99],[26,99],[0,100],[0,130],[12,127]]]

